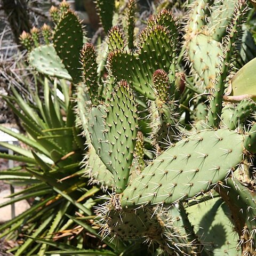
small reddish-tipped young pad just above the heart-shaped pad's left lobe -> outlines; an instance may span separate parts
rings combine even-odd
[[[123,50],[126,45],[125,36],[121,29],[114,26],[108,32],[108,49],[109,52]]]

